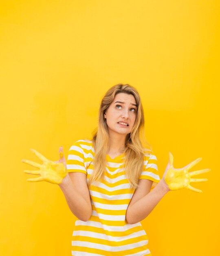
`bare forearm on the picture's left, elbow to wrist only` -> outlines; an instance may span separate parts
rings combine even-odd
[[[70,177],[65,177],[65,180],[59,184],[59,187],[64,193],[70,211],[72,211],[79,220],[88,221],[92,213],[91,205],[88,205],[81,194],[77,192]]]

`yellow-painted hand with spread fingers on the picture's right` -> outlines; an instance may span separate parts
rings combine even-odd
[[[198,162],[202,160],[202,157],[194,160],[187,166],[183,168],[174,168],[174,157],[172,153],[169,152],[169,162],[167,164],[165,173],[163,175],[162,180],[166,182],[169,187],[169,190],[177,190],[177,189],[190,189],[191,191],[202,193],[202,190],[196,189],[192,187],[190,182],[205,182],[208,179],[191,179],[191,176],[198,175],[200,173],[206,173],[211,171],[211,169],[202,169],[199,171],[189,172],[189,169],[196,165]]]

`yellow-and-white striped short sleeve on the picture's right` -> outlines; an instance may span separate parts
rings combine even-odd
[[[153,152],[152,152],[153,153]],[[139,179],[147,179],[147,180],[152,180],[152,188],[153,189],[156,184],[161,180],[157,168],[157,158],[156,155],[150,154],[147,155],[145,154],[144,156],[144,169],[139,177]]]

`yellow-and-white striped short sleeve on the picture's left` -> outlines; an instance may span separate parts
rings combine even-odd
[[[66,168],[68,172],[79,172],[87,175],[84,164],[84,151],[79,141],[76,141],[69,149]]]

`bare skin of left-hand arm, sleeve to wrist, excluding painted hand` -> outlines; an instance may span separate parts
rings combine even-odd
[[[70,211],[82,221],[88,221],[92,214],[90,193],[84,173],[69,173],[59,184]]]

